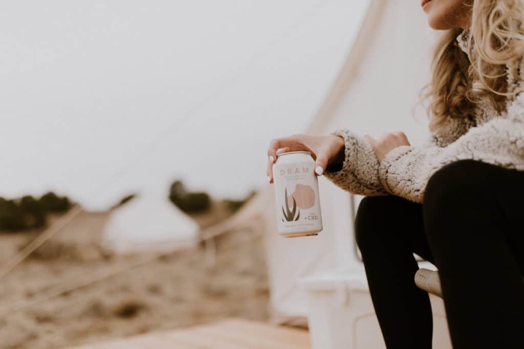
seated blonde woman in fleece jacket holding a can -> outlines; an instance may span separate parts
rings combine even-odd
[[[409,4],[406,4],[408,6]],[[388,348],[431,348],[413,253],[436,265],[455,348],[524,348],[524,0],[423,0],[443,30],[429,84],[430,139],[347,129],[274,139],[366,196],[356,240]],[[379,96],[377,97],[379,98]]]

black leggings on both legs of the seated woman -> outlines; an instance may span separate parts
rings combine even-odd
[[[431,348],[413,253],[439,269],[454,348],[524,348],[524,172],[458,161],[430,178],[423,204],[364,198],[355,228],[388,348]]]

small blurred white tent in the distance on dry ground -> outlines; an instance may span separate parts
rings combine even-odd
[[[139,195],[111,213],[102,246],[117,253],[169,252],[194,246],[198,224],[166,195]]]

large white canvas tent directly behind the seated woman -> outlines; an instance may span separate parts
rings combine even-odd
[[[435,34],[428,27],[419,3],[370,0],[347,59],[307,133],[327,134],[335,128],[346,127],[377,137],[389,131],[404,131],[411,144],[427,138],[427,116],[418,102],[421,89],[430,80],[434,39]],[[300,283],[305,276],[310,276],[308,283],[313,288],[334,288],[339,282],[345,285],[346,281],[326,275],[343,274],[346,279],[354,275],[369,299],[353,238],[353,216],[359,198],[322,177],[319,185],[324,230],[318,237],[283,239],[278,236],[272,185],[266,186],[250,205],[238,212],[234,222],[265,224],[271,308],[278,322],[311,315],[307,291]],[[347,301],[344,295],[341,299]],[[367,305],[364,312],[373,314],[369,301]],[[326,316],[323,321],[327,319]],[[376,330],[376,320],[373,321]],[[445,331],[445,320],[439,321],[440,328],[435,328],[437,334],[442,328]],[[380,347],[381,336],[375,334],[379,346],[368,343],[362,347]],[[445,338],[443,341],[442,347],[445,347]],[[313,347],[332,347],[319,346],[319,343],[313,340]]]

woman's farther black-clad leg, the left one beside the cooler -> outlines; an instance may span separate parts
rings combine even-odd
[[[413,252],[432,261],[422,205],[396,196],[366,197],[358,207],[356,241],[388,348],[431,348],[429,296],[414,283]]]

